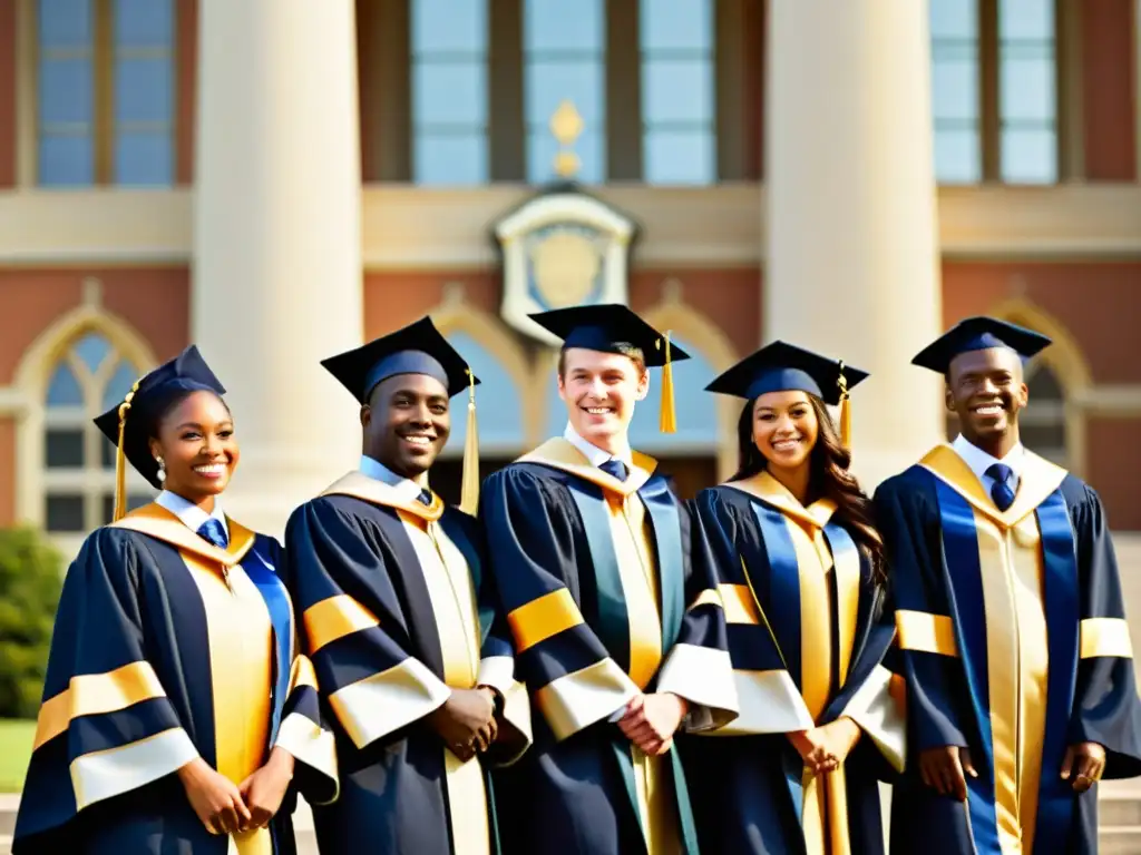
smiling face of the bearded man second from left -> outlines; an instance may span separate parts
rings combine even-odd
[[[452,431],[447,389],[427,374],[398,374],[361,409],[364,453],[415,480],[431,469]]]

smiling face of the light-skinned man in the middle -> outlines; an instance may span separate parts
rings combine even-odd
[[[625,442],[634,404],[649,390],[641,355],[567,348],[560,366],[559,397],[570,426],[591,445],[615,453]]]

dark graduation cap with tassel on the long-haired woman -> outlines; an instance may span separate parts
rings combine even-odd
[[[705,386],[709,392],[755,400],[766,392],[808,392],[825,404],[840,405],[840,441],[851,440],[848,392],[868,373],[810,350],[775,341],[742,359]]]

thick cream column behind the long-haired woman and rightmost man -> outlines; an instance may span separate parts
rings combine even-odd
[[[928,5],[769,3],[764,337],[872,373],[852,394],[872,488],[942,437]]]

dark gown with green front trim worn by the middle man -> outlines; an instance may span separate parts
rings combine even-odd
[[[497,781],[501,828],[519,855],[697,850],[678,752],[646,758],[613,716],[661,691],[694,705],[693,726],[731,718],[725,614],[688,512],[650,458],[633,463],[620,482],[560,438],[482,490],[536,711],[534,748]]]

